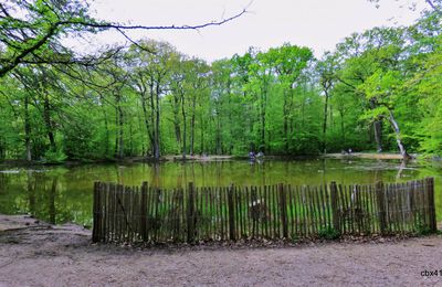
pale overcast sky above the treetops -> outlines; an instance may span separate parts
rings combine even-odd
[[[424,0],[421,2],[424,6]],[[266,50],[284,42],[309,46],[320,56],[352,32],[412,23],[419,13],[400,3],[407,0],[382,0],[379,9],[367,0],[95,0],[92,9],[98,19],[109,21],[180,25],[221,20],[250,4],[249,13],[221,26],[129,33],[134,39],[167,41],[180,52],[213,61],[242,54],[249,46]],[[115,32],[94,39],[107,44],[125,42]]]

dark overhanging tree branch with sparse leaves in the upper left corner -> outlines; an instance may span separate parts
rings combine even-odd
[[[137,45],[126,31],[200,30],[225,24],[246,13],[246,10],[243,9],[229,18],[196,25],[125,25],[91,18],[88,7],[83,1],[65,0],[62,2],[63,4],[59,0],[6,0],[6,2],[0,3],[0,78],[22,63],[56,64],[64,62],[65,60],[61,61],[60,57],[72,56],[73,53],[66,53],[65,49],[63,49],[64,51],[54,51],[49,47],[49,44],[59,43],[60,36],[66,36],[73,32],[97,33],[105,30],[116,30],[130,43]],[[59,45],[62,46],[60,43]],[[51,53],[48,54],[48,50]],[[51,62],[56,53],[62,56],[55,56],[56,60]],[[72,60],[72,62],[75,62],[75,60]],[[82,63],[85,63],[85,61],[78,61],[78,64]]]

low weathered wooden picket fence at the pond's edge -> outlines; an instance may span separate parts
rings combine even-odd
[[[404,183],[162,190],[96,182],[94,242],[200,242],[435,232],[433,178]]]

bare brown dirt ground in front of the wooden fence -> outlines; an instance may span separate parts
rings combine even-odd
[[[0,286],[442,286],[441,269],[440,235],[141,249],[92,244],[77,225],[0,215]]]

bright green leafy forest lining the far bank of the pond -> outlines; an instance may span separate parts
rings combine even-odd
[[[28,21],[1,4],[0,160],[442,155],[439,10],[354,33],[320,57],[286,43],[208,63],[150,39],[78,59],[65,31],[105,24],[44,2],[24,6]]]

